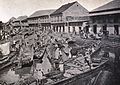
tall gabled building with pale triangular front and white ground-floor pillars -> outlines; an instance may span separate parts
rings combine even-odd
[[[77,1],[62,5],[50,14],[52,29],[55,32],[79,33],[84,22],[88,22],[88,10]]]

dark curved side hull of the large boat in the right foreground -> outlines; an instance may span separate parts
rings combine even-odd
[[[98,73],[105,68],[106,63],[107,61],[101,64],[99,67],[90,71],[45,85],[88,85],[88,83],[91,83],[91,80],[95,78],[98,75]]]

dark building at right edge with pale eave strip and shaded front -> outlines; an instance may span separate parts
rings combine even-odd
[[[93,32],[120,34],[120,0],[113,0],[89,12]]]

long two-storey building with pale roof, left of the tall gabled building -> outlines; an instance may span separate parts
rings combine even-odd
[[[55,10],[39,10],[28,17],[28,24],[31,30],[33,29],[48,29],[51,28],[50,14]]]

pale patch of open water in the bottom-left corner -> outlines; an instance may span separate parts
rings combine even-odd
[[[14,83],[22,77],[26,77],[30,74],[31,67],[25,67],[22,69],[13,70],[12,68],[4,69],[0,72],[0,80],[7,83]]]

